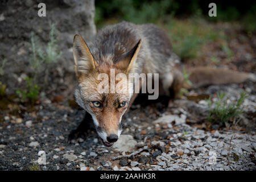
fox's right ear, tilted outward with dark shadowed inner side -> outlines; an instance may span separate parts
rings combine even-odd
[[[141,39],[139,42],[122,57],[122,59],[118,60],[115,65],[117,68],[122,69],[127,73],[133,72],[132,70],[136,68],[135,60],[137,59],[139,49],[141,48]]]

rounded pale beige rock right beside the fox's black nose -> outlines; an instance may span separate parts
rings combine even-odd
[[[131,135],[121,135],[113,148],[119,152],[133,152],[137,142]]]

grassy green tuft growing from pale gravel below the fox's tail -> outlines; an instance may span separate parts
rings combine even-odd
[[[209,115],[208,121],[214,122],[228,122],[230,119],[236,119],[240,117],[243,113],[243,101],[247,97],[246,93],[243,92],[238,98],[236,103],[228,103],[228,99],[225,98],[226,94],[223,92],[217,93],[217,101],[212,102],[211,97],[209,97]]]

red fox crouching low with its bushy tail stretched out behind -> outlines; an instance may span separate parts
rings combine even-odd
[[[78,86],[75,90],[76,102],[85,111],[84,121],[77,131],[85,129],[92,121],[97,134],[106,147],[117,142],[122,132],[121,120],[138,93],[100,93],[98,92],[98,75],[105,73],[110,77],[123,73],[158,73],[159,94],[175,96],[184,86],[179,57],[172,51],[167,35],[153,24],[136,25],[122,22],[106,26],[92,39],[85,43],[79,35],[73,41],[73,57]],[[220,79],[220,72],[224,77]],[[193,84],[225,84],[243,82],[246,79],[255,81],[249,73],[238,73],[218,69],[193,68],[189,78]],[[111,79],[109,80],[109,82]],[[126,80],[129,82],[130,80]],[[117,84],[117,80],[115,84]],[[139,88],[143,84],[138,83]]]

